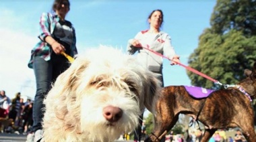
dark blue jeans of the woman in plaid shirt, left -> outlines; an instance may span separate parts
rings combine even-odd
[[[45,61],[39,56],[35,56],[33,69],[36,76],[36,96],[33,105],[33,127],[32,131],[42,129],[42,118],[44,117],[44,97],[51,89],[51,84],[56,78],[69,67],[69,62],[64,56],[51,57],[51,60]]]

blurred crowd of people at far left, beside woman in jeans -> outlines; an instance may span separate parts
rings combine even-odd
[[[9,98],[5,90],[0,91],[0,131],[2,133],[23,133],[26,135],[33,124],[33,102],[30,98],[24,101],[21,93]],[[6,123],[7,122],[7,123]]]

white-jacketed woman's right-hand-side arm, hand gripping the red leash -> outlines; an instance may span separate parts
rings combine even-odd
[[[172,42],[169,35],[167,35],[165,38],[163,52],[164,52],[164,55],[170,59],[170,64],[173,65],[173,64],[177,64],[175,62],[180,62],[179,60],[180,57],[175,53],[175,50],[172,46]]]

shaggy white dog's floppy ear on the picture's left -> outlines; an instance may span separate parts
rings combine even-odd
[[[75,90],[78,87],[77,80],[79,80],[79,77],[84,70],[86,70],[88,64],[89,60],[79,59],[78,57],[65,72],[57,77],[57,80],[53,84],[53,88],[49,91],[44,100],[46,109],[49,109],[46,113],[55,113],[55,117],[61,120],[69,115],[67,108],[73,106],[77,100],[75,94]],[[70,118],[72,117],[74,116],[71,116]],[[73,118],[73,121],[75,121],[74,119],[75,118]]]

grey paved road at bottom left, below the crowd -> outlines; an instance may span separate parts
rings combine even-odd
[[[0,142],[25,142],[25,141],[26,141],[26,135],[0,133]],[[115,141],[115,142],[124,142],[124,141]],[[132,141],[127,141],[127,142],[132,142]]]

